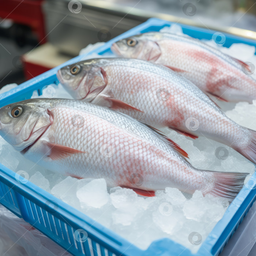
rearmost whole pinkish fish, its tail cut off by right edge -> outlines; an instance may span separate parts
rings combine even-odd
[[[199,39],[171,33],[150,32],[122,39],[112,45],[120,56],[166,65],[202,91],[224,101],[256,99],[251,67]]]

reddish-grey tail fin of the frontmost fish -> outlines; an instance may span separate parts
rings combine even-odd
[[[211,171],[208,171],[211,172]],[[227,199],[231,203],[244,186],[244,180],[249,173],[238,172],[211,172],[213,174],[213,186],[210,193]]]

